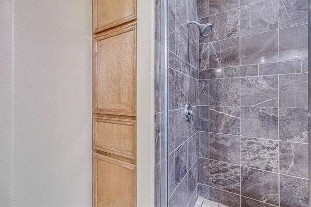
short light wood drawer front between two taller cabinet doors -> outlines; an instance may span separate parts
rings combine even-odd
[[[136,121],[94,117],[93,148],[136,159]]]

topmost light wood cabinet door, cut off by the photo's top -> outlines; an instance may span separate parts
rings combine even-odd
[[[137,18],[137,0],[93,0],[94,33]]]

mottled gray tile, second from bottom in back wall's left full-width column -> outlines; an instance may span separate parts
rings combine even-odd
[[[209,185],[225,191],[240,193],[240,166],[210,160]]]

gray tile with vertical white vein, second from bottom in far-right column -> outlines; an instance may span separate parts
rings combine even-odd
[[[280,173],[308,178],[308,144],[280,141]]]

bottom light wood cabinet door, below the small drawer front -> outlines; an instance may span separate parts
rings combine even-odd
[[[93,206],[136,206],[136,166],[94,153]]]

